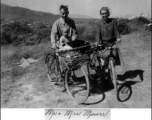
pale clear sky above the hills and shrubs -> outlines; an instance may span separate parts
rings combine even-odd
[[[114,17],[151,15],[151,0],[1,0],[1,3],[53,14],[59,14],[59,6],[64,4],[68,5],[70,14],[93,18],[100,18],[99,10],[103,6],[109,7]]]

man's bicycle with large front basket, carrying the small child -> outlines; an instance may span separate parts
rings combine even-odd
[[[84,103],[90,93],[89,78],[85,72],[85,66],[89,62],[89,56],[82,53],[82,49],[87,47],[90,47],[90,45],[84,45],[71,50],[56,51],[54,56],[56,64],[54,72],[56,72],[57,76],[63,78],[63,85],[65,85],[68,94],[77,103]],[[51,55],[46,59],[49,79],[49,73],[52,71],[49,65],[50,57]],[[58,79],[55,81],[57,83]]]

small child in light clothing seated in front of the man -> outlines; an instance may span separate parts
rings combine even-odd
[[[70,42],[70,38],[68,36],[68,28],[63,28],[63,36],[61,36],[59,40],[59,49],[65,50],[65,49],[72,49],[67,43]]]

